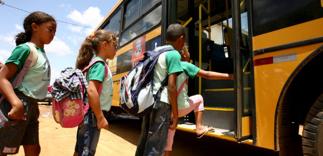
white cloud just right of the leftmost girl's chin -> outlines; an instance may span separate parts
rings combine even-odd
[[[66,54],[73,53],[69,46],[66,45],[65,42],[59,40],[57,37],[55,37],[50,44],[45,44],[44,49],[46,50],[46,53],[54,53],[58,56],[65,56]]]

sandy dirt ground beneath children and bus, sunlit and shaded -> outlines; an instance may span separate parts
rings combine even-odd
[[[62,128],[52,118],[52,107],[39,105],[41,156],[72,156],[77,128]],[[109,130],[101,130],[96,156],[133,156],[140,137],[141,122],[127,115],[111,115]],[[255,146],[213,137],[196,138],[195,133],[176,131],[171,156],[248,155],[277,156],[278,153]],[[24,156],[21,147],[17,156]]]

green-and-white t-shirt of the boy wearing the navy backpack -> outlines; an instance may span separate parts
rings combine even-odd
[[[158,51],[165,47],[173,48],[171,45],[164,45],[157,47],[155,51]],[[154,68],[154,85],[152,88],[152,93],[157,93],[157,91],[161,87],[161,82],[167,75],[177,72],[179,72],[178,74],[183,72],[183,68],[181,66],[181,55],[179,54],[179,52],[172,50],[161,53]],[[167,86],[165,86],[164,90],[161,91],[161,102],[170,103]]]

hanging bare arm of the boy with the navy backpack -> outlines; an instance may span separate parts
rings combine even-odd
[[[168,97],[172,106],[173,119],[169,126],[171,130],[175,130],[178,124],[178,107],[177,107],[177,88],[176,88],[177,73],[168,75]]]

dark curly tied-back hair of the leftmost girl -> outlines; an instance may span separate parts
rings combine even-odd
[[[49,22],[49,21],[55,21],[54,17],[51,15],[48,15],[44,12],[41,11],[36,11],[31,14],[29,14],[25,20],[24,20],[24,29],[25,32],[21,32],[15,36],[16,39],[16,45],[24,44],[31,39],[31,32],[32,32],[32,27],[31,24],[35,23],[37,25],[42,24],[44,22]]]

